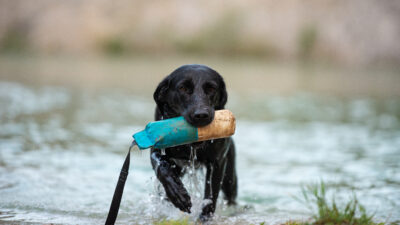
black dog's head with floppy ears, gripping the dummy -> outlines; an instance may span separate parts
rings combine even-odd
[[[214,119],[227,101],[225,82],[204,65],[184,65],[164,78],[154,92],[158,112],[166,118],[184,116],[196,127]]]

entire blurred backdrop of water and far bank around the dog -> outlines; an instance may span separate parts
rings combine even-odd
[[[293,196],[320,180],[399,221],[399,40],[396,0],[0,0],[0,224],[102,223],[153,91],[190,63],[238,120],[240,206],[215,223],[307,219]],[[158,185],[133,155],[119,222],[185,217]]]

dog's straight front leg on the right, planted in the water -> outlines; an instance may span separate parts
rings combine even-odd
[[[221,190],[222,179],[224,177],[226,160],[210,162],[207,164],[206,184],[204,199],[211,200],[203,206],[200,214],[201,221],[207,221],[215,212],[218,194]]]

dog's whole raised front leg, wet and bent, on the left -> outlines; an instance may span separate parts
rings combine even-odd
[[[158,149],[151,151],[151,164],[157,175],[158,180],[164,186],[168,199],[180,210],[190,213],[192,203],[190,196],[183,186],[181,179],[172,168],[172,162],[166,155],[161,155]]]

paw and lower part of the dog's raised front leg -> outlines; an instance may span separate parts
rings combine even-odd
[[[171,170],[167,162],[158,166],[157,177],[164,186],[165,193],[172,204],[180,210],[190,213],[190,208],[192,208],[190,196],[181,179]]]

